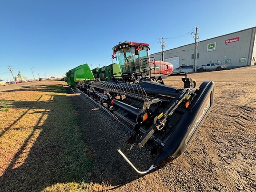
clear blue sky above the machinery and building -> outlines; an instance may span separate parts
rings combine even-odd
[[[0,0],[0,79],[61,77],[80,64],[112,63],[112,47],[148,43],[150,53],[256,26],[255,0]],[[32,70],[31,70],[32,69]],[[39,75],[38,75],[39,74]]]

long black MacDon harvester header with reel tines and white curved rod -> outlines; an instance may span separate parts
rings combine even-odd
[[[84,81],[80,87],[83,91],[79,88],[76,91],[81,92],[89,107],[98,109],[97,115],[111,127],[109,132],[126,150],[145,149],[152,154],[150,168],[139,171],[118,149],[140,174],[180,156],[213,105],[212,81],[204,81],[199,89],[193,86],[178,89],[147,81],[140,84]]]

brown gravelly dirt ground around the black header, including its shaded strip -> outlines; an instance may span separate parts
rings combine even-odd
[[[256,66],[189,77],[197,88],[204,80],[215,82],[214,106],[187,151],[147,175],[137,174],[118,154],[112,125],[73,97],[94,159],[92,182],[113,192],[256,191]],[[180,77],[164,82],[182,87]]]

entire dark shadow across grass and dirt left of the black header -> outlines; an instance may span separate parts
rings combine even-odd
[[[32,87],[26,90],[42,91]],[[41,191],[69,182],[120,186],[140,177],[120,157],[111,137],[104,136],[102,122],[80,104],[80,96],[55,95],[52,92],[67,92],[66,88],[56,85],[44,86],[44,91],[49,92],[48,101],[40,101],[42,96],[36,102],[12,101],[12,108],[27,110],[0,133],[0,139],[28,113],[38,113],[30,112],[31,109],[40,109],[41,115],[0,177],[1,191]],[[40,125],[45,115],[47,119]],[[40,133],[27,158],[16,167],[36,130]],[[101,136],[97,138],[98,134]]]

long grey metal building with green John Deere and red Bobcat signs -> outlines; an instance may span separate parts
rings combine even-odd
[[[256,27],[233,32],[198,42],[196,66],[208,63],[226,64],[227,68],[256,65]],[[173,68],[193,65],[195,44],[166,50],[164,61],[173,64]],[[162,52],[151,55],[161,60]]]

